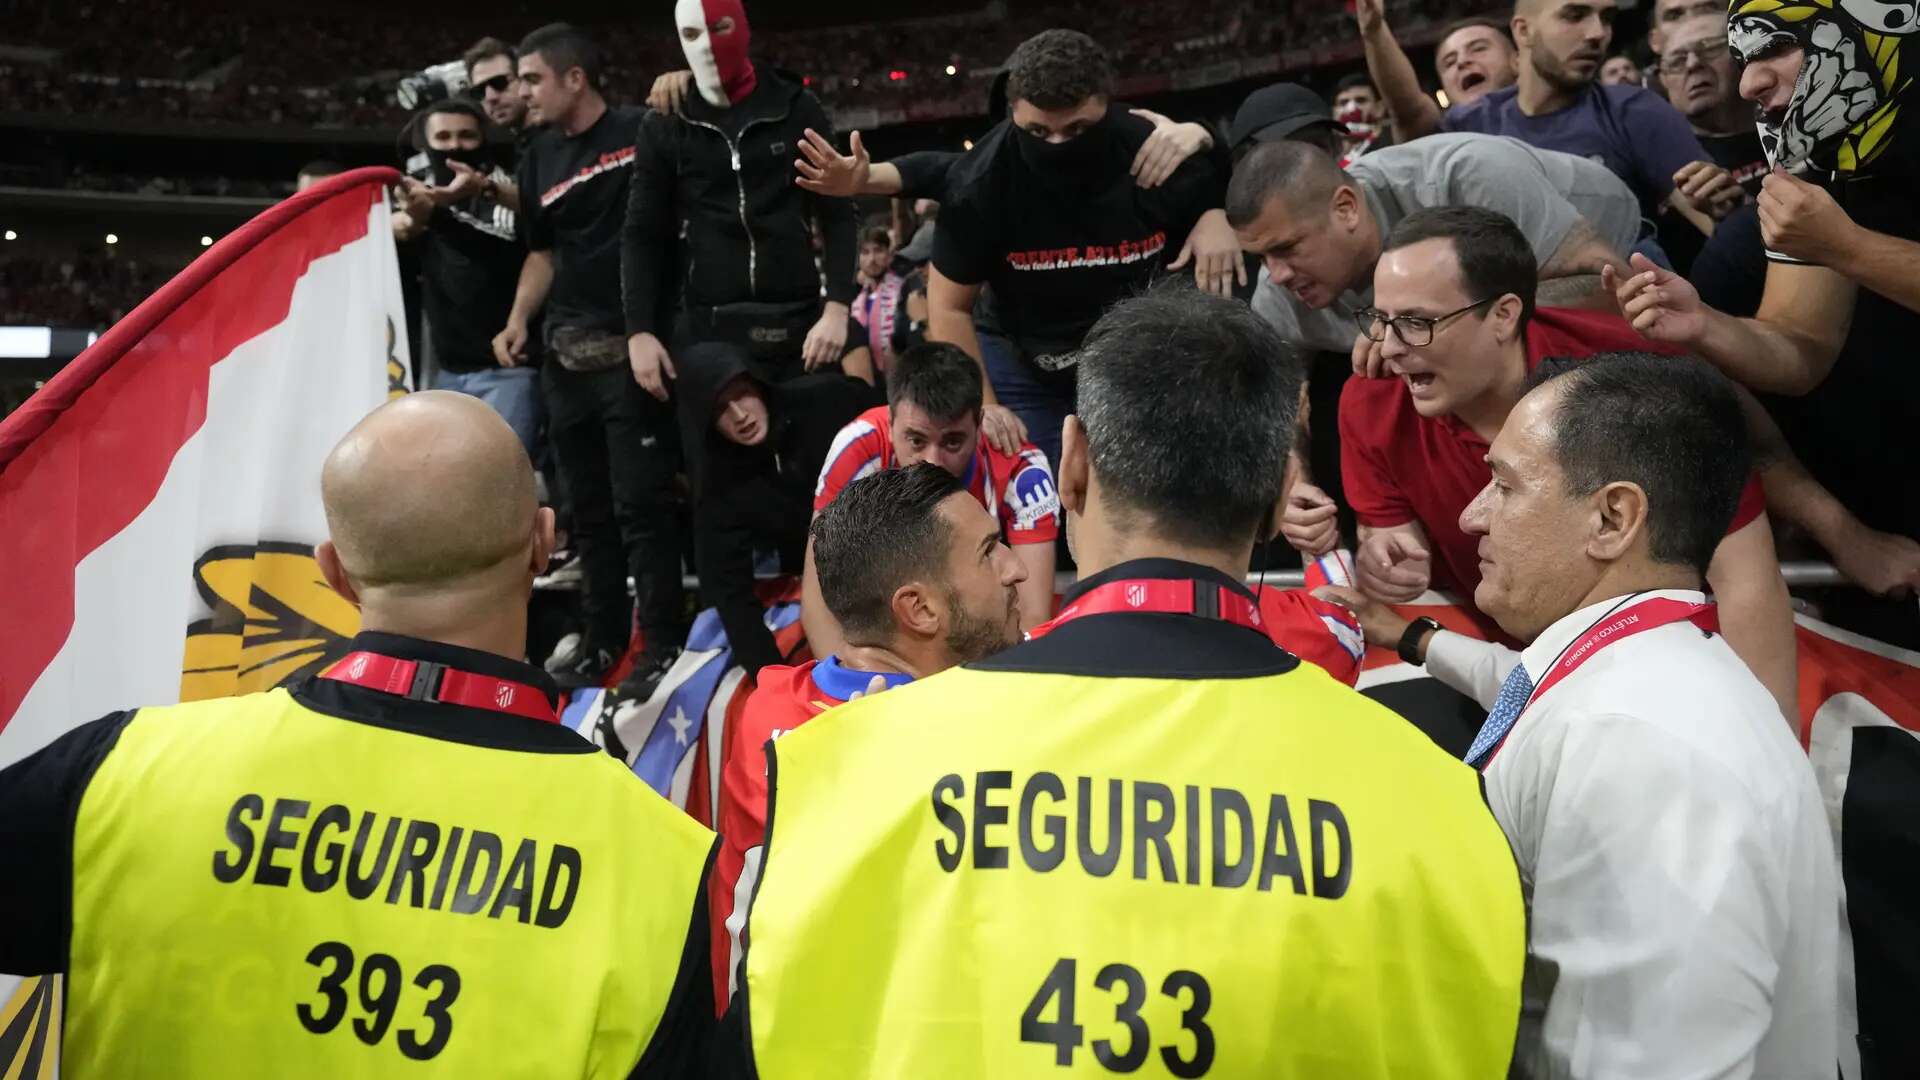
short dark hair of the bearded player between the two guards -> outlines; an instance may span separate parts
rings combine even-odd
[[[820,600],[847,642],[893,640],[893,594],[912,580],[947,580],[948,527],[939,507],[964,492],[960,479],[922,461],[862,477],[814,517]]]

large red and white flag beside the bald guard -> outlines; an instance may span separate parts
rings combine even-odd
[[[267,209],[0,421],[0,767],[115,709],[265,690],[353,636],[313,563],[321,463],[407,390],[397,179]],[[58,1045],[27,1030],[54,1022],[38,994],[0,976],[0,1045]]]

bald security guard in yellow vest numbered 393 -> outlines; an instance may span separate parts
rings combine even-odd
[[[324,675],[84,724],[0,773],[0,970],[65,972],[86,1076],[685,1076],[714,836],[555,723],[553,511],[476,398],[323,473]]]

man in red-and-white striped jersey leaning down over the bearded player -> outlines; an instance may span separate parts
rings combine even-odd
[[[854,417],[828,450],[814,513],[872,473],[920,461],[947,469],[1000,523],[1002,538],[1025,567],[1020,626],[1033,628],[1054,613],[1060,494],[1046,457],[1031,442],[1020,454],[1000,454],[981,438],[979,411],[979,365],[958,346],[929,342],[902,352],[887,373],[887,404]],[[801,582],[801,621],[814,655],[839,651],[841,630],[820,601],[812,548]]]

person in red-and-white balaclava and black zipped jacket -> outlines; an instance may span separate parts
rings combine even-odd
[[[662,402],[672,352],[697,342],[747,350],[770,379],[839,361],[858,244],[851,200],[787,179],[804,133],[831,127],[799,81],[753,61],[739,0],[680,0],[674,21],[699,94],[682,115],[645,113],[620,234],[628,357]],[[824,265],[814,263],[816,227]],[[685,248],[678,288],[676,242]],[[672,325],[660,325],[676,292]]]

